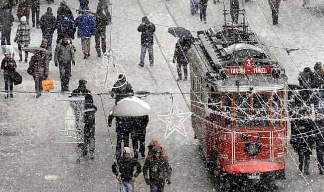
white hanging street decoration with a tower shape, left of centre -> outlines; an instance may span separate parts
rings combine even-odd
[[[56,143],[84,142],[84,96],[56,97],[59,101],[62,118],[57,122]]]

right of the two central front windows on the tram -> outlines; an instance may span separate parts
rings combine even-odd
[[[253,120],[252,123],[254,126],[268,126],[269,121],[266,120],[269,118],[269,97],[268,94],[255,94],[253,95],[253,115],[256,119],[262,120]]]

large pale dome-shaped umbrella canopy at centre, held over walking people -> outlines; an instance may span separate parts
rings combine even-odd
[[[111,115],[121,117],[134,117],[149,115],[150,105],[136,96],[128,96],[115,104],[110,111]]]

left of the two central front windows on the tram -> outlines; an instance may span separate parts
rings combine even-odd
[[[235,125],[236,127],[249,127],[250,126],[250,96],[237,95],[235,109]]]

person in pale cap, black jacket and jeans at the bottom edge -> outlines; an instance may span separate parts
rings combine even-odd
[[[117,171],[117,165],[120,175]],[[117,157],[117,162],[114,162],[111,168],[116,179],[121,183],[123,192],[134,192],[134,182],[142,172],[142,166],[136,159],[132,158],[129,147],[124,147],[123,156]],[[134,173],[135,168],[136,172]]]

